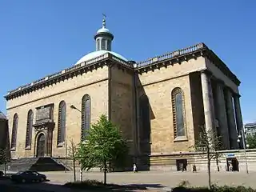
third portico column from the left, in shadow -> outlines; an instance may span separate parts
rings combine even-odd
[[[234,107],[232,94],[230,89],[226,89],[226,112],[230,131],[230,148],[231,150],[238,149],[238,134],[234,120]]]

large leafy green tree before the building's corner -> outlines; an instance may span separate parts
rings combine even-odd
[[[128,147],[121,132],[104,114],[86,132],[86,141],[78,147],[78,161],[82,170],[90,170],[93,167],[103,169],[104,185],[107,166],[123,166],[127,154]]]

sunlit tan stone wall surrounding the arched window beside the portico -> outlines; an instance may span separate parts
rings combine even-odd
[[[199,82],[195,80],[190,85],[190,73],[205,68],[205,58],[200,57],[138,75],[138,97],[146,94],[150,100],[151,154],[189,151],[194,145],[191,86],[194,88],[194,84]],[[174,141],[171,91],[175,87],[182,88],[185,98],[186,140],[182,142]]]

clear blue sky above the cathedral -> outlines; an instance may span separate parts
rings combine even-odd
[[[106,26],[113,50],[140,61],[205,42],[242,81],[244,122],[256,121],[256,1],[0,0],[0,110],[8,90],[74,65]]]

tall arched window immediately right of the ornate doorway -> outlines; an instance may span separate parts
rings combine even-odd
[[[57,145],[62,146],[66,138],[66,102],[62,101],[58,106],[58,138]]]

